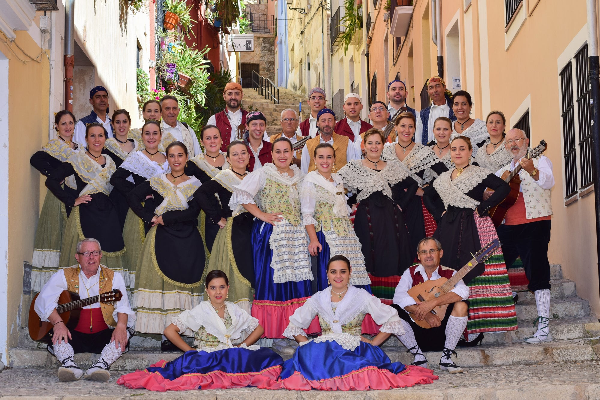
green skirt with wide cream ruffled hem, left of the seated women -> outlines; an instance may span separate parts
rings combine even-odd
[[[136,332],[162,335],[172,317],[202,302],[204,284],[175,285],[165,279],[156,261],[156,229],[157,226],[152,226],[148,231],[137,261],[131,308],[136,312]],[[193,333],[187,330],[185,335]]]

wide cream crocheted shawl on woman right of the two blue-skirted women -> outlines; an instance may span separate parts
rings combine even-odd
[[[409,171],[396,160],[388,160],[388,165],[381,171],[374,171],[362,165],[361,160],[353,160],[344,165],[338,174],[344,181],[344,186],[352,192],[357,192],[356,201],[366,199],[374,192],[383,192],[392,198],[390,185],[397,184],[409,176]]]

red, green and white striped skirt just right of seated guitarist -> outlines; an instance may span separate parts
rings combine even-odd
[[[490,217],[479,217],[475,212],[473,217],[481,247],[498,238]],[[517,330],[517,311],[501,248],[485,261],[484,273],[467,286],[470,289],[467,334]]]

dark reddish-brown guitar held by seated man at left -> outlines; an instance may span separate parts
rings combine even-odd
[[[31,336],[31,339],[34,339],[34,341],[52,343],[52,334],[50,333],[50,330],[52,330],[53,325],[48,321],[42,321],[34,309],[35,299],[38,295],[40,294],[38,293],[35,295],[31,301],[31,306],[29,307],[29,336]],[[80,298],[77,293],[64,290],[58,297],[56,311],[58,311],[58,314],[62,318],[62,322],[64,322],[67,328],[71,330],[77,326],[79,312],[83,307],[91,306],[95,303],[113,304],[121,300],[121,297],[123,297],[123,295],[119,289],[113,289],[110,292],[83,299]]]

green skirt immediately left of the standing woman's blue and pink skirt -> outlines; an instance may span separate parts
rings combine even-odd
[[[233,218],[229,217],[225,228],[218,231],[215,243],[212,245],[211,259],[208,261],[208,268],[206,268],[202,280],[212,270],[221,270],[226,273],[229,279],[229,292],[227,294],[229,301],[250,314],[254,289],[250,281],[239,272],[238,265],[235,262],[232,248],[232,226]],[[206,297],[206,300],[208,300],[208,296]]]

